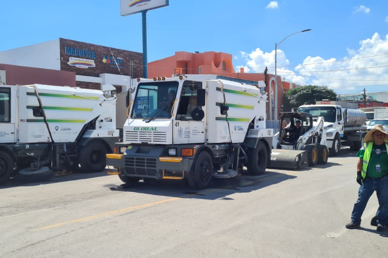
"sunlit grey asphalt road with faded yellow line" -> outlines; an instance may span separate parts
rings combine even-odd
[[[386,257],[388,232],[345,229],[357,200],[355,152],[327,165],[268,169],[193,191],[73,174],[0,187],[0,257]]]

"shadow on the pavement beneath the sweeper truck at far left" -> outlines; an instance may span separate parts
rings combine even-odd
[[[102,172],[97,172],[97,173],[74,172],[72,174],[54,176],[49,181],[31,182],[31,183],[20,182],[12,177],[9,181],[0,185],[0,189],[10,188],[10,187],[18,187],[18,186],[38,186],[38,185],[42,185],[42,184],[53,184],[53,183],[58,183],[58,182],[67,182],[67,181],[80,180],[80,179],[89,179],[89,178],[93,178],[93,177],[104,177],[107,175],[108,175],[107,169],[105,169]]]

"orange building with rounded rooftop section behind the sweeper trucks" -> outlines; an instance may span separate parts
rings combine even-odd
[[[171,77],[175,73],[176,68],[181,68],[183,74],[218,74],[233,78],[246,79],[251,81],[265,81],[264,73],[244,73],[244,68],[240,68],[239,72],[234,71],[232,63],[232,55],[223,52],[204,52],[190,53],[179,51],[175,55],[166,57],[148,63],[148,76],[152,77]],[[268,88],[270,85],[271,89]],[[281,77],[277,76],[278,95],[277,103],[278,110],[281,112],[282,100],[285,92],[293,88],[293,83],[281,81]],[[272,96],[271,102],[274,101],[275,75],[267,74],[267,87],[265,91]],[[272,114],[269,113],[270,102],[267,104],[267,119],[274,119],[273,104]]]

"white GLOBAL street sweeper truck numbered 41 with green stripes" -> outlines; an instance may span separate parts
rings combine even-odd
[[[262,82],[260,82],[263,84]],[[123,143],[107,154],[126,183],[187,179],[195,189],[244,165],[265,171],[272,129],[265,129],[267,93],[256,81],[217,75],[138,79],[123,126]]]

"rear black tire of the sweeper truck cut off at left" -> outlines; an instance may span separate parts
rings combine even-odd
[[[106,167],[106,146],[102,141],[92,141],[81,148],[79,162],[86,172],[100,172]]]

